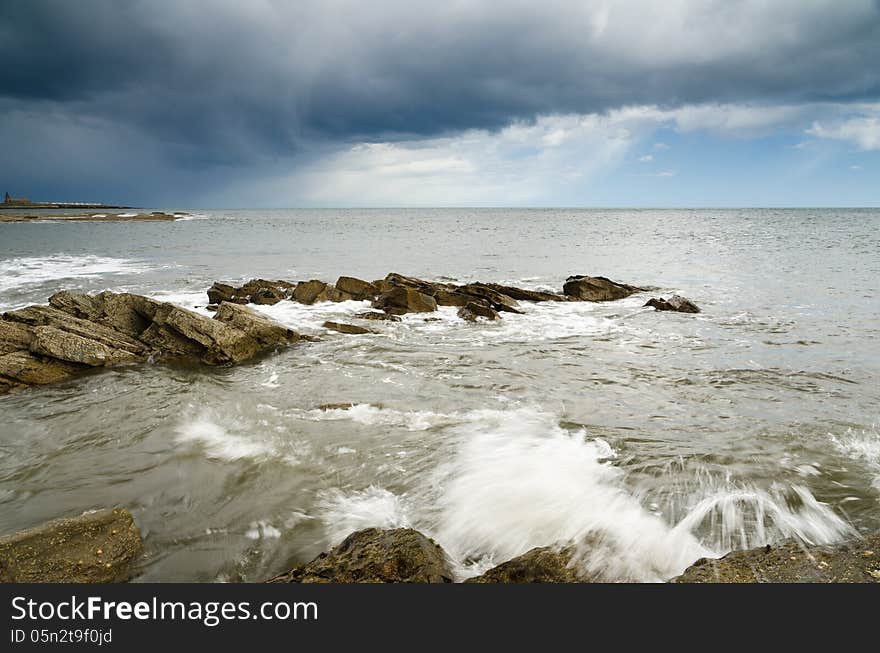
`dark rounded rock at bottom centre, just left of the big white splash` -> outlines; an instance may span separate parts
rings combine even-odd
[[[451,583],[446,554],[410,528],[368,528],[271,583]]]

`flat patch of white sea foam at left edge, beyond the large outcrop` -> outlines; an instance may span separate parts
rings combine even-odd
[[[66,279],[94,279],[107,275],[143,272],[140,261],[107,256],[25,256],[0,261],[0,292],[49,281]]]

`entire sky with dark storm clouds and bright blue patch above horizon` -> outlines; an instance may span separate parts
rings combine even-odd
[[[0,4],[0,193],[880,206],[880,0]]]

